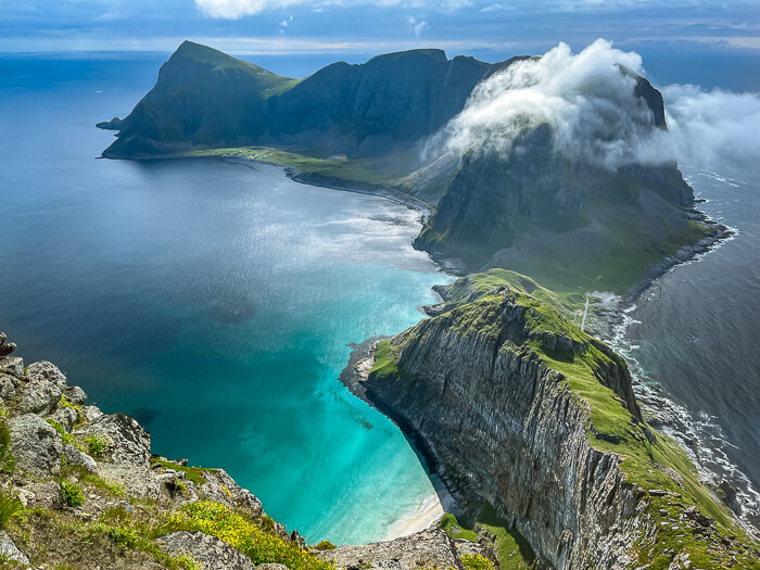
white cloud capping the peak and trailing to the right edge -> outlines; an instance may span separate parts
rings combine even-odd
[[[682,164],[719,169],[760,162],[760,94],[662,89],[668,130],[654,125],[636,80],[642,59],[597,40],[578,54],[563,43],[512,64],[472,91],[464,111],[431,141],[429,153],[479,149],[508,156],[525,127],[546,124],[554,151],[607,168]]]

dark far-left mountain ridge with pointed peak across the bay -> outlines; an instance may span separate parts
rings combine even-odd
[[[109,157],[198,147],[279,143],[349,156],[388,153],[438,131],[472,88],[508,65],[441,50],[389,53],[363,65],[329,65],[302,81],[186,41],[155,87],[116,128]]]

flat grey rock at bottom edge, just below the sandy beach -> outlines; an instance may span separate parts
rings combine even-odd
[[[393,541],[362,546],[340,546],[318,556],[334,560],[338,568],[453,568],[463,570],[454,541],[442,529],[430,529]]]

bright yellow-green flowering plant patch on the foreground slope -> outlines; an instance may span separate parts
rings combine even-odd
[[[231,544],[251,558],[253,563],[277,562],[290,570],[332,570],[325,562],[297,545],[269,534],[250,517],[218,503],[199,502],[185,505],[169,515],[161,532],[201,531]]]

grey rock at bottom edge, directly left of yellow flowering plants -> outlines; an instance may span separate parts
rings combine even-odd
[[[170,556],[191,556],[203,570],[255,570],[249,557],[233,546],[202,532],[174,532],[159,542]]]

